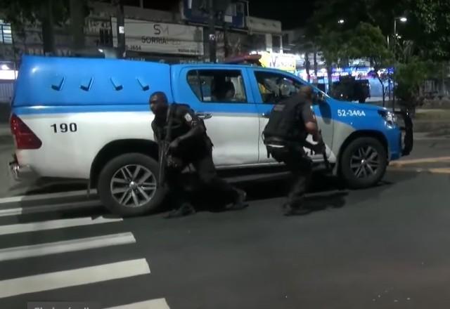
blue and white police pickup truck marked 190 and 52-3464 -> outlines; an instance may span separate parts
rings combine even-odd
[[[16,149],[10,169],[17,179],[86,180],[111,211],[148,213],[165,196],[158,187],[151,93],[164,91],[169,102],[187,103],[205,119],[219,171],[250,172],[279,166],[266,155],[262,130],[274,104],[304,84],[293,74],[251,65],[25,55],[11,103]],[[394,113],[314,89],[328,160],[352,188],[378,183],[390,160],[411,151],[411,126],[402,134]],[[323,162],[322,155],[311,157]]]

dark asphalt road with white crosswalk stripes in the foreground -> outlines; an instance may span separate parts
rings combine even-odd
[[[245,185],[243,211],[204,196],[172,220],[117,218],[83,192],[2,198],[0,307],[448,308],[450,178],[427,171],[448,162],[411,162],[447,156],[450,140],[435,142],[375,188],[317,177],[304,216],[282,216],[283,181]]]

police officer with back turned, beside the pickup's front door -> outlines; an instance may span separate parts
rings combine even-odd
[[[309,147],[316,153],[325,150],[311,110],[313,93],[311,86],[302,86],[294,96],[275,105],[264,129],[264,144],[268,155],[285,163],[295,178],[288,201],[283,204],[286,216],[302,213],[304,193],[311,178],[312,162],[303,147]],[[313,136],[316,145],[306,142],[308,134]]]

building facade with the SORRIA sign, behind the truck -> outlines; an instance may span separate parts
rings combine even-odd
[[[172,11],[148,8],[151,1],[125,1],[124,34],[126,57],[186,63],[209,60],[209,12],[203,0],[180,0]],[[221,13],[216,16],[215,38],[217,59],[252,50],[282,51],[281,22],[248,16],[248,1],[217,1]],[[1,12],[0,12],[1,13]],[[117,8],[108,1],[91,4],[85,18],[85,49],[96,52],[117,46]],[[55,29],[56,55],[74,55],[70,21]],[[2,35],[9,34],[1,44],[1,60],[15,61],[23,53],[43,55],[41,25],[26,25],[14,31],[11,25]]]

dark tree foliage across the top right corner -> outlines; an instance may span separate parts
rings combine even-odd
[[[449,0],[319,0],[317,9],[307,22],[312,39],[318,29],[352,30],[359,22],[379,27],[384,37],[394,35],[394,20],[406,16],[404,24],[397,21],[401,40],[412,41],[413,54],[420,58],[450,60]],[[345,23],[338,25],[338,20]]]

